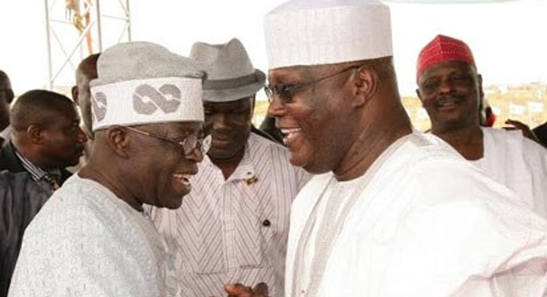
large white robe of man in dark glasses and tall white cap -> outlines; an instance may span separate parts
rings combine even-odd
[[[286,296],[544,296],[547,222],[513,195],[433,135],[356,180],[317,175],[292,207]]]

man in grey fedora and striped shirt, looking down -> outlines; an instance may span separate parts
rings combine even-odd
[[[287,148],[251,131],[266,75],[238,39],[197,42],[190,57],[206,70],[212,141],[182,207],[153,209],[151,218],[177,253],[186,296],[224,296],[228,282],[265,282],[271,296],[283,296],[289,210],[309,175],[289,163]]]

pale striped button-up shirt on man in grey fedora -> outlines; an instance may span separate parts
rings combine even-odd
[[[226,296],[222,286],[266,282],[283,296],[289,210],[310,179],[286,148],[251,133],[232,175],[206,157],[176,210],[151,218],[175,254],[184,296]]]

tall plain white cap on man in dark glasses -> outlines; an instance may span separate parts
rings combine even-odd
[[[388,6],[378,0],[293,0],[264,19],[269,68],[393,55]]]

